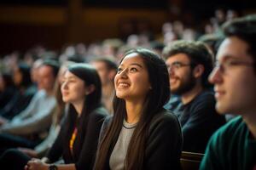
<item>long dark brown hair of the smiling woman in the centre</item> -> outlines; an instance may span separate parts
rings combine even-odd
[[[148,91],[143,104],[142,115],[131,137],[125,157],[125,169],[143,169],[148,127],[154,116],[163,110],[163,105],[170,98],[169,76],[165,62],[160,59],[160,56],[146,48],[131,49],[125,56],[134,53],[142,57],[145,63],[152,89]],[[123,120],[126,116],[124,99],[119,99],[117,96],[114,97],[113,113],[113,121],[108,127],[102,141],[100,141],[101,143],[96,156],[96,170],[101,170],[108,164],[108,156],[119,138]]]

